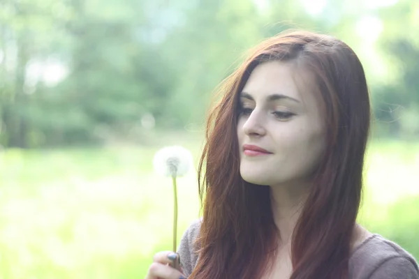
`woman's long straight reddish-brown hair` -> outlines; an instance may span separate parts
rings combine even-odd
[[[267,61],[308,70],[325,107],[328,149],[293,233],[291,278],[347,278],[369,134],[369,94],[353,50],[341,40],[307,31],[288,31],[260,43],[220,86],[223,97],[207,121],[198,169],[203,223],[190,278],[255,279],[272,268],[280,239],[270,190],[242,179],[237,141],[238,95],[252,70]]]

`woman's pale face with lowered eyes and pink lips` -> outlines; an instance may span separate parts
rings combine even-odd
[[[240,93],[240,174],[266,186],[307,183],[325,148],[321,102],[289,63],[257,66]],[[306,79],[306,80],[307,80]],[[312,81],[311,81],[312,82]],[[311,83],[312,84],[312,83]]]

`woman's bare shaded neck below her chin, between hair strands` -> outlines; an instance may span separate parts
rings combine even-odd
[[[307,185],[270,188],[272,213],[281,235],[281,246],[291,247],[293,231],[307,198]]]

